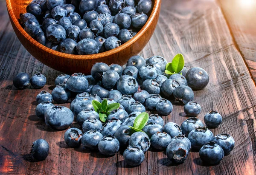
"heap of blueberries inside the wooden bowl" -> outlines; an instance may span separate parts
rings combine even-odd
[[[152,7],[151,0],[33,0],[20,25],[52,50],[98,54],[134,37]]]

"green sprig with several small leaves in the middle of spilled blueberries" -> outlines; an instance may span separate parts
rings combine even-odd
[[[111,103],[108,104],[108,100],[104,99],[102,103],[93,100],[92,102],[94,110],[99,113],[99,119],[102,122],[105,122],[108,118],[108,115],[111,113],[112,110],[118,109],[120,104],[119,103]]]

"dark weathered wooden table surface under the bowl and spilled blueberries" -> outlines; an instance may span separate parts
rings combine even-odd
[[[163,0],[159,23],[140,55],[171,60],[183,54],[188,68],[204,68],[210,81],[195,91],[202,112],[212,109],[223,116],[214,135],[229,133],[236,141],[230,155],[220,164],[207,166],[198,152],[190,152],[180,165],[172,164],[164,152],[149,150],[139,167],[129,167],[118,152],[106,158],[64,142],[64,132],[52,130],[35,116],[35,97],[52,91],[55,71],[33,58],[15,36],[0,0],[0,174],[256,174],[256,3],[253,0]],[[248,3],[248,4],[246,4]],[[16,90],[13,77],[19,72],[42,72],[47,85],[40,90]],[[172,101],[173,102],[173,101]],[[70,106],[70,103],[64,104]],[[183,106],[174,105],[165,122],[181,124]],[[35,162],[29,154],[32,142],[48,141],[45,161]]]

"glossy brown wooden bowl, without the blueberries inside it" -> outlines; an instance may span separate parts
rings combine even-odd
[[[93,55],[71,55],[54,51],[35,41],[23,30],[18,19],[26,13],[26,6],[32,0],[6,0],[6,6],[12,27],[21,44],[32,56],[45,65],[65,73],[82,72],[90,74],[95,62],[105,62],[108,65],[124,65],[127,60],[137,55],[148,43],[157,25],[161,0],[153,0],[154,7],[147,23],[131,40],[111,51]]]

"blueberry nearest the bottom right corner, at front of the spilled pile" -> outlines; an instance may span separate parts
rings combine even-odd
[[[210,141],[200,149],[199,156],[207,164],[218,164],[224,157],[224,151],[214,141]]]

